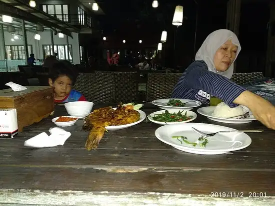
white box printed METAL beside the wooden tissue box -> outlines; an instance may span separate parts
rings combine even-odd
[[[0,139],[11,139],[18,134],[16,109],[0,109]]]

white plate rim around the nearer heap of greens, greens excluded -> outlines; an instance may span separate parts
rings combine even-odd
[[[184,123],[184,122],[191,122],[191,121],[193,121],[195,118],[196,118],[196,113],[194,113],[194,112],[192,112],[192,111],[190,111],[190,110],[183,110],[183,109],[167,109],[167,111],[169,112],[169,113],[178,113],[178,111],[180,111],[181,112],[181,114],[185,114],[185,112],[187,112],[187,116],[193,116],[191,119],[189,119],[189,120],[186,120],[186,121],[182,121],[182,122],[159,122],[159,121],[155,121],[155,120],[153,120],[153,118],[152,117],[154,117],[154,116],[156,116],[155,114],[162,114],[162,113],[164,113],[165,112],[165,110],[160,110],[160,111],[157,111],[157,112],[153,112],[153,113],[151,113],[150,115],[148,115],[147,116],[147,118],[148,118],[148,120],[150,120],[151,122],[153,122],[153,123],[156,123],[156,124],[159,124],[159,125],[166,125],[166,124],[180,124],[180,123]]]

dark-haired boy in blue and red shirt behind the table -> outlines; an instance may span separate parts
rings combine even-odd
[[[49,70],[48,84],[54,87],[54,102],[86,101],[85,97],[71,87],[76,74],[68,61],[54,63]]]

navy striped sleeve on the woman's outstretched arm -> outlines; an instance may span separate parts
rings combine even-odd
[[[186,86],[207,92],[226,103],[229,107],[234,107],[233,102],[246,89],[221,76],[208,71],[203,63],[196,63],[186,71]]]

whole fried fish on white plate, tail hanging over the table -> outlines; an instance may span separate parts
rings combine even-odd
[[[125,129],[142,122],[146,114],[139,110],[143,104],[119,104],[116,108],[111,106],[93,110],[83,121],[83,130],[89,131],[85,148],[89,151],[98,146],[105,131]]]

